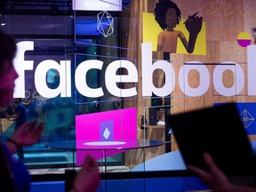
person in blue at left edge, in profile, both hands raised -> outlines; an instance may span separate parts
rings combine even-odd
[[[0,31],[0,107],[6,107],[13,98],[14,80],[19,76],[12,60],[17,47],[14,39]],[[8,192],[30,191],[31,177],[20,159],[12,156],[18,148],[34,145],[42,135],[44,124],[36,121],[22,124],[4,142],[0,140],[0,187]],[[100,185],[100,172],[92,156],[86,156],[81,170],[76,174],[71,191],[95,192]]]

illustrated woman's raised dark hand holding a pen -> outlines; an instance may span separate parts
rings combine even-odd
[[[203,25],[203,17],[196,16],[195,18],[192,18],[191,16],[188,16],[185,25],[190,36],[197,36]]]

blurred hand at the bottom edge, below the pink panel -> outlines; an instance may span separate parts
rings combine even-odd
[[[81,170],[76,174],[71,191],[95,192],[100,185],[98,163],[92,156],[86,156]]]

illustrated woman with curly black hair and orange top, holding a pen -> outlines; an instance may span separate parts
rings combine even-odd
[[[180,30],[174,28],[180,24],[181,12],[177,4],[171,0],[159,0],[155,8],[155,20],[163,29],[157,36],[157,52],[176,52],[178,37],[186,48],[188,53],[194,52],[196,37],[201,31],[203,18],[196,16],[198,12],[188,16],[188,20],[184,22],[188,29],[188,41]]]

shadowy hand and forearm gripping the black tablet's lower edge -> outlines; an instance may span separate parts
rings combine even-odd
[[[204,161],[209,167],[209,172],[205,172],[204,170],[189,164],[188,170],[195,172],[196,175],[198,175],[206,185],[212,188],[214,192],[256,192],[256,188],[232,184],[224,172],[221,172],[214,163],[210,154],[204,154]]]

